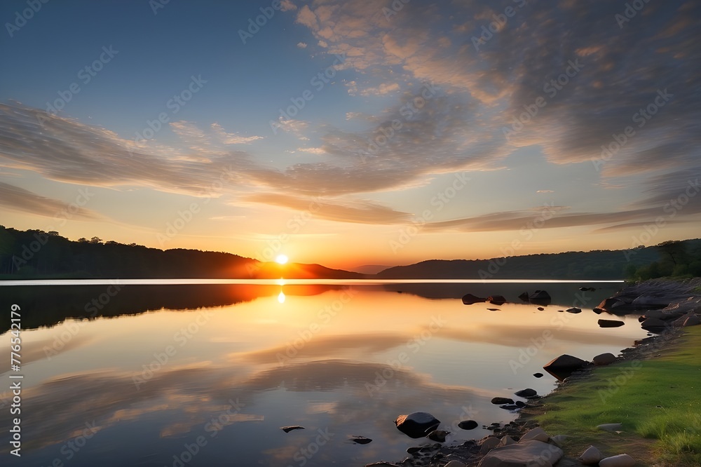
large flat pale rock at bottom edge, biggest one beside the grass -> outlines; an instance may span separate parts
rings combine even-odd
[[[486,454],[479,467],[526,467],[538,465],[540,467],[552,467],[554,463],[562,459],[564,452],[556,446],[546,442],[529,440],[524,443],[498,447]],[[537,459],[537,463],[534,462]]]

